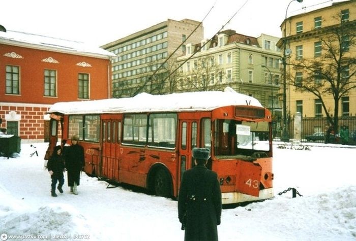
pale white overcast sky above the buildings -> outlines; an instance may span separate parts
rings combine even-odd
[[[222,26],[223,29],[233,29],[252,37],[258,37],[261,33],[281,37],[279,26],[290,1],[6,0],[1,3],[0,24],[8,30],[101,46],[167,19],[202,21],[207,15],[203,21],[204,38],[211,38]],[[340,1],[293,1],[287,16]]]

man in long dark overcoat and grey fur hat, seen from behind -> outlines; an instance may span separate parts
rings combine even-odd
[[[218,240],[222,209],[218,175],[205,166],[209,149],[193,148],[192,152],[196,166],[184,172],[178,197],[184,240]]]

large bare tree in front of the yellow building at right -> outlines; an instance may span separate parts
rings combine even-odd
[[[320,40],[315,43],[314,58],[299,59],[291,63],[295,76],[289,76],[289,83],[299,91],[313,93],[321,102],[327,119],[338,129],[339,101],[351,89],[356,89],[355,45],[356,21],[341,21],[340,24],[321,29]],[[302,78],[303,76],[303,78]],[[325,99],[334,99],[334,112],[325,105]]]

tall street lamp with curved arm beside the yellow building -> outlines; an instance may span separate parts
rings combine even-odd
[[[289,2],[287,9],[285,10],[284,17],[284,40],[283,40],[283,131],[282,131],[282,141],[289,141],[288,130],[287,130],[287,84],[286,84],[286,74],[287,74],[287,12],[289,5],[297,1],[302,3],[303,0],[292,0]],[[289,53],[288,53],[289,55]]]

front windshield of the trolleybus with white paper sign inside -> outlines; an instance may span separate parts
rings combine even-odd
[[[215,155],[253,156],[270,151],[269,122],[247,122],[236,120],[215,121]],[[230,157],[228,157],[230,158]]]

